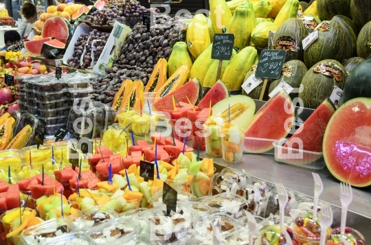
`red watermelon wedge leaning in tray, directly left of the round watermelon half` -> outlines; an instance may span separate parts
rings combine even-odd
[[[322,152],[324,132],[330,118],[335,113],[335,105],[329,99],[324,100],[308,119],[291,136],[284,147],[299,149],[298,140],[302,142],[301,150]]]

